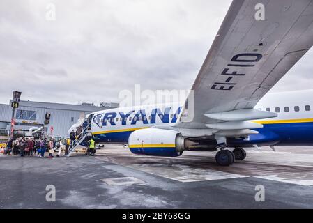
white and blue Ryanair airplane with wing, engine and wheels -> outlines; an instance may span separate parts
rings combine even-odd
[[[260,3],[265,20],[255,17]],[[268,93],[312,45],[312,0],[233,1],[192,85],[191,120],[188,98],[94,112],[90,132],[140,155],[218,151],[222,166],[244,160],[245,147],[312,145],[313,90]]]

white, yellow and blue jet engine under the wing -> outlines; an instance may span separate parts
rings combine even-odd
[[[145,128],[130,134],[130,151],[139,155],[175,157],[183,154],[185,148],[193,144],[174,130]]]

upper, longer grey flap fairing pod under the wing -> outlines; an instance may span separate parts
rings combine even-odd
[[[223,121],[245,121],[277,117],[277,114],[274,112],[266,112],[258,109],[238,109],[229,112],[216,112],[204,115],[208,118]]]

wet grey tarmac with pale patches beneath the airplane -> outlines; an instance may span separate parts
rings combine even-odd
[[[247,148],[229,167],[216,152],[150,157],[116,145],[93,157],[0,155],[0,208],[313,208],[313,148],[276,150]]]

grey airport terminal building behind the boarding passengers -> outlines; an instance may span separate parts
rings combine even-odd
[[[10,134],[12,118],[11,100],[9,105],[0,104],[0,136]],[[66,137],[68,129],[82,117],[91,112],[119,107],[117,103],[101,103],[101,106],[82,103],[68,105],[49,102],[20,101],[15,110],[15,134],[25,134],[31,127],[43,127],[45,134],[53,137]],[[47,118],[49,116],[49,118]]]

